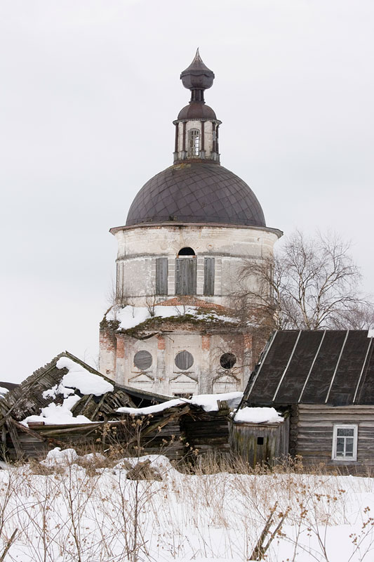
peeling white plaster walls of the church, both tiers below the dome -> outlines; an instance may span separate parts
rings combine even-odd
[[[180,249],[191,247],[196,254],[196,294],[201,306],[230,308],[236,278],[248,260],[272,256],[274,243],[281,235],[272,228],[159,224],[114,228],[118,242],[116,283],[118,300],[123,304],[147,306],[169,303],[182,297],[175,294],[175,259]],[[168,294],[156,295],[156,259],[168,259]],[[215,259],[213,296],[203,295],[204,259]],[[256,280],[248,279],[248,284]],[[187,298],[188,297],[183,297]],[[175,311],[171,306],[171,315]],[[157,336],[137,339],[126,333],[107,334],[102,331],[100,370],[119,384],[169,396],[196,393],[219,393],[245,388],[253,361],[253,331],[236,333],[235,326],[207,330],[206,327],[165,325],[156,329]],[[152,327],[148,329],[152,334]],[[154,332],[154,330],[153,330]],[[152,364],[145,370],[135,365],[135,354],[147,351]],[[180,351],[188,351],[194,362],[187,370],[175,365]],[[236,363],[224,369],[220,358],[233,353]]]

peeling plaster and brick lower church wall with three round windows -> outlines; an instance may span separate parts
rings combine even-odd
[[[119,384],[168,396],[240,391],[245,388],[253,367],[252,341],[248,334],[236,334],[226,328],[218,334],[202,334],[196,327],[168,326],[168,331],[149,339],[117,334],[116,349],[102,355],[100,370]],[[121,344],[119,344],[119,340]],[[119,352],[119,348],[121,352]],[[147,351],[152,364],[145,370],[136,367],[138,351]],[[191,353],[193,364],[182,370],[175,365],[181,351]],[[123,353],[122,353],[123,352]],[[234,353],[233,369],[224,369],[220,358]],[[115,365],[115,372],[112,365]],[[105,369],[105,367],[108,367]]]

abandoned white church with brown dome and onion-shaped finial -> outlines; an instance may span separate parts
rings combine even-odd
[[[243,391],[268,336],[256,319],[240,320],[233,296],[243,267],[272,256],[282,233],[220,164],[221,122],[204,100],[214,77],[198,50],[180,75],[191,99],[173,122],[173,165],[143,185],[126,225],[110,230],[116,294],[100,322],[99,370],[166,396]]]

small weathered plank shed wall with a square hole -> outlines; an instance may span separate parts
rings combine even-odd
[[[230,444],[251,466],[273,464],[288,455],[289,418],[281,424],[230,424]]]

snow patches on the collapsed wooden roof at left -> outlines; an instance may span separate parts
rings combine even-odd
[[[74,417],[71,412],[72,407],[81,399],[81,396],[76,394],[76,390],[83,395],[93,394],[94,396],[102,396],[102,394],[114,391],[114,386],[104,378],[89,372],[68,357],[61,357],[56,363],[56,367],[58,369],[66,368],[69,372],[62,377],[60,384],[55,384],[42,394],[44,399],[51,398],[51,403],[41,408],[39,416],[28,416],[21,421],[22,424],[27,425],[29,422],[35,421],[42,421],[46,425],[89,424],[91,420],[88,417]],[[53,402],[58,395],[64,397],[62,404]]]

